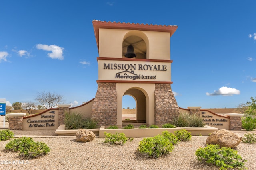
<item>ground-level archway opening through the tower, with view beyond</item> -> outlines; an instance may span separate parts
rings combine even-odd
[[[130,97],[127,97],[130,96]],[[129,109],[130,111],[130,117],[128,114],[124,114],[124,111],[128,111],[128,109],[122,109],[122,119],[123,122],[134,122],[134,123],[146,123],[146,96],[145,94],[138,89],[132,88],[127,90],[124,93],[123,99],[122,99],[122,106],[125,108],[126,103],[130,102],[136,102],[136,107],[132,109]],[[123,104],[123,102],[125,102]],[[134,105],[133,105],[134,106]],[[129,107],[129,106],[127,106]],[[126,107],[126,108],[127,108]],[[130,107],[129,107],[130,108]],[[130,120],[125,120],[130,119]]]

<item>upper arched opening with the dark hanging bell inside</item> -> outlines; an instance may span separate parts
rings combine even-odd
[[[129,36],[123,41],[123,58],[146,59],[145,41],[138,36]]]

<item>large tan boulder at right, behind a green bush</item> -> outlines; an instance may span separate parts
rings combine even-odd
[[[242,141],[242,139],[243,138],[236,133],[226,129],[221,129],[211,133],[211,135],[206,139],[206,144],[218,144],[220,147],[234,148]]]

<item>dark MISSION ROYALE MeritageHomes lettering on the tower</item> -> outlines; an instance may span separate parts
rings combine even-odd
[[[156,75],[135,74],[135,70],[139,71],[167,71],[167,65],[156,64],[117,64],[117,63],[103,63],[104,70],[125,70],[116,73],[116,79],[156,79]],[[121,75],[124,73],[124,75]]]

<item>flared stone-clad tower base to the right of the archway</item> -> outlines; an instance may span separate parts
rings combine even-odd
[[[171,84],[155,84],[155,124],[170,123],[179,114],[179,106],[172,93]]]

